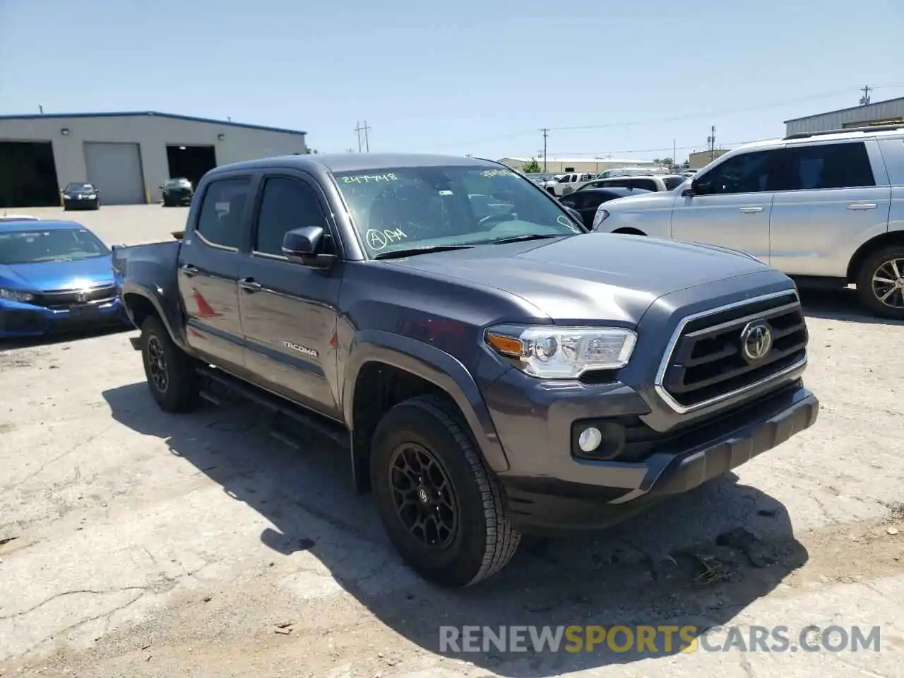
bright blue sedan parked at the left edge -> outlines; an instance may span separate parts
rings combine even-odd
[[[75,221],[0,222],[0,338],[127,322],[94,233]]]

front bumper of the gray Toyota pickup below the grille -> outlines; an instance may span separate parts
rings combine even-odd
[[[609,415],[628,414],[633,400],[630,393],[611,396],[612,407],[597,400],[594,415],[573,401],[571,420],[599,418],[600,410]],[[818,412],[819,401],[797,380],[740,409],[679,428],[654,441],[652,451],[636,460],[579,458],[567,445],[568,438],[554,451],[536,445],[527,449],[506,446],[513,467],[499,477],[512,523],[523,532],[598,530],[777,447],[813,426]],[[545,460],[543,470],[538,466],[541,458]],[[523,473],[529,468],[533,469],[529,474]]]

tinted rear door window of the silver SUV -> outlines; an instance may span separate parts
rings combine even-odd
[[[788,191],[876,185],[862,142],[792,146],[786,149],[783,160]]]

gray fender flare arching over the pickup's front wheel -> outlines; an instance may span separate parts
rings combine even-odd
[[[487,465],[496,473],[508,470],[508,459],[496,434],[490,410],[465,365],[435,346],[399,334],[367,330],[356,335],[343,382],[343,415],[350,430],[354,420],[355,384],[366,363],[386,363],[446,391],[465,416]]]

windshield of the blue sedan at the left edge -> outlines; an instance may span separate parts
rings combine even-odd
[[[108,254],[107,246],[84,229],[0,232],[0,265],[71,261]]]

